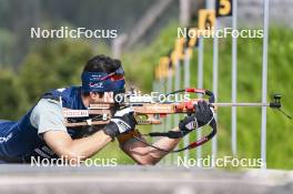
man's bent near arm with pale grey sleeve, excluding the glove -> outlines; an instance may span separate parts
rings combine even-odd
[[[48,99],[40,100],[32,110],[30,120],[47,145],[60,157],[69,160],[91,157],[112,140],[103,131],[88,137],[72,140],[63,124],[61,105]]]

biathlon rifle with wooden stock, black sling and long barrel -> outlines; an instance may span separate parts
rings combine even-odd
[[[211,104],[211,108],[214,111],[218,110],[220,106],[267,106],[271,109],[280,110],[285,116],[292,119],[284,111],[281,109],[281,94],[275,94],[273,96],[273,101],[270,103],[215,103],[214,102],[214,94],[204,89],[184,89],[178,90],[171,93],[165,94],[164,96],[169,96],[171,94],[178,93],[195,93],[201,95],[208,95],[209,99],[205,101]],[[117,100],[119,99],[119,100]],[[112,96],[108,101],[98,102],[95,104],[90,104],[88,110],[69,110],[63,109],[64,115],[64,123],[65,126],[75,127],[75,126],[90,126],[90,125],[104,125],[108,124],[112,116],[112,110],[119,110],[128,106],[132,106],[134,110],[134,118],[137,120],[138,125],[148,125],[148,124],[161,124],[161,119],[169,114],[188,114],[191,115],[195,112],[195,104],[203,99],[190,99],[188,101],[181,102],[153,102],[152,99],[135,95],[135,92],[131,90],[131,92],[120,95],[119,98]],[[79,120],[74,120],[74,118],[79,118]],[[80,120],[80,118],[84,118],[84,120]],[[176,150],[176,151],[165,151],[163,149],[153,146],[145,142],[144,140],[133,136],[137,140],[153,146],[158,150],[165,151],[165,152],[181,152],[186,149],[194,149],[203,143],[210,141],[216,133],[216,124],[212,126],[212,131],[202,139],[198,140],[196,142],[192,142],[186,147]],[[145,134],[144,134],[145,135]],[[169,136],[171,139],[182,137],[181,132],[152,132],[146,134],[149,136]]]

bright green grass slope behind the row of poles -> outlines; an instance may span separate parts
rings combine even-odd
[[[270,29],[269,45],[269,83],[267,92],[283,94],[283,108],[291,111],[293,104],[293,30],[279,27]],[[123,63],[125,67],[128,83],[135,85],[144,92],[150,92],[153,83],[153,68],[160,57],[166,55],[174,44],[176,24],[171,23],[164,29],[155,41],[146,49],[138,48],[131,53],[125,53]],[[260,102],[262,86],[262,40],[239,39],[238,44],[238,101]],[[212,89],[212,40],[204,41],[204,88]],[[196,86],[198,51],[191,61],[191,82]],[[219,51],[219,101],[231,101],[231,39],[220,40]],[[267,99],[270,100],[270,99]],[[231,155],[231,109],[219,109],[219,156]],[[267,110],[267,167],[293,167],[292,122],[279,112]],[[260,131],[261,109],[238,109],[238,156],[260,157]],[[194,136],[192,136],[194,139]],[[118,156],[121,163],[131,163],[131,160],[119,151],[113,152],[110,145],[101,155]],[[210,154],[211,144],[203,145],[204,155]],[[110,152],[111,151],[111,152]],[[110,154],[110,155],[109,155]],[[195,154],[192,151],[192,154]]]

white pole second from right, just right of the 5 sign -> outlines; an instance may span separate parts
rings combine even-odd
[[[232,7],[232,29],[238,29],[238,0],[233,1]],[[238,39],[232,38],[232,103],[235,103],[238,99]],[[232,125],[232,154],[238,154],[238,112],[236,108],[232,106],[231,125]]]

